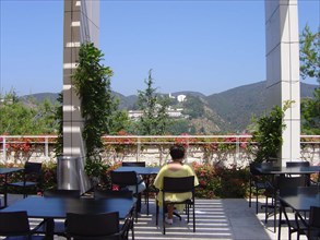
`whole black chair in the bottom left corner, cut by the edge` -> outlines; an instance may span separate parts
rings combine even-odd
[[[25,211],[0,213],[0,236],[7,237],[5,239],[45,239],[45,236],[35,236],[38,227],[40,227],[40,225],[31,229],[27,213]]]

